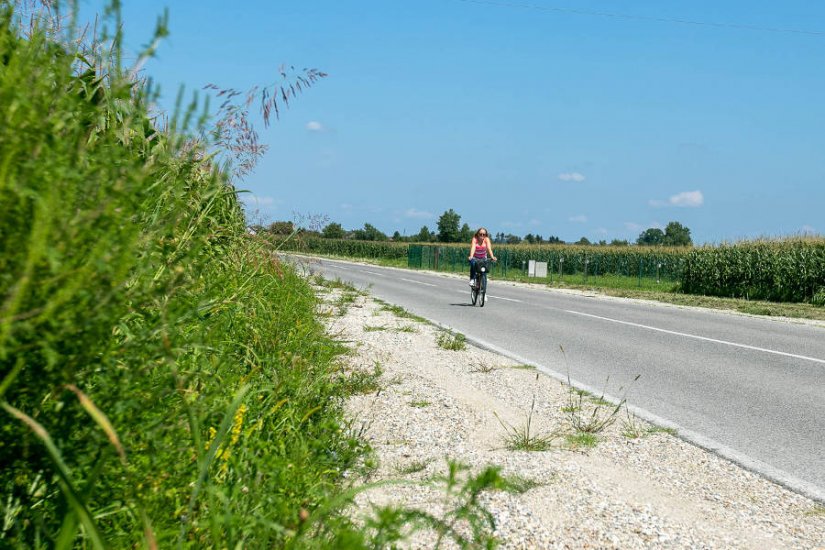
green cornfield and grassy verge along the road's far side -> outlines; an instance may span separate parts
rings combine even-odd
[[[468,270],[464,245],[298,238],[292,248],[306,254],[387,267],[462,274]],[[492,267],[490,276],[499,280],[752,315],[825,320],[822,238],[670,249],[497,245],[496,255],[499,262]],[[529,276],[530,260],[547,262],[547,275]],[[690,272],[685,271],[686,266]],[[690,281],[683,284],[687,277]]]

